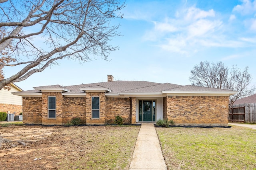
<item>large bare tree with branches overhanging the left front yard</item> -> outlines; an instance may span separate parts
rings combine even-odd
[[[122,18],[116,12],[124,6],[119,0],[0,0],[0,29],[7,33],[1,36],[0,51],[12,44],[9,55],[15,59],[0,66],[22,66],[0,81],[0,89],[60,59],[84,62],[101,56],[107,60],[118,49],[108,42],[120,35],[119,25],[112,20]]]

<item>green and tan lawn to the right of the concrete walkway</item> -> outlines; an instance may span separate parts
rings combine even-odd
[[[168,169],[256,170],[256,130],[156,128]]]

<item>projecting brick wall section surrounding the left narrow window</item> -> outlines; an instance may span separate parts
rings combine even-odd
[[[48,118],[48,96],[56,96],[56,118]],[[42,92],[42,124],[62,125],[62,103],[64,97],[61,92]]]

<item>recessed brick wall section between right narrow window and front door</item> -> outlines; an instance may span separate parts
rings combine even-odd
[[[106,123],[113,124],[117,115],[123,123],[131,123],[130,98],[106,98]]]

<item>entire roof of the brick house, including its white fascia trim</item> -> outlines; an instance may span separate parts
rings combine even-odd
[[[16,92],[19,96],[38,96],[41,92],[58,90],[64,96],[86,96],[86,92],[105,92],[106,96],[166,96],[170,95],[204,95],[229,96],[236,94],[232,90],[205,88],[199,86],[182,86],[170,83],[155,83],[147,81],[110,81],[74,86],[41,86],[35,90]]]

